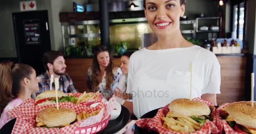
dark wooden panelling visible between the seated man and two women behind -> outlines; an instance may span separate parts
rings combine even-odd
[[[92,66],[93,59],[65,59],[67,65],[67,73],[74,82],[75,88],[79,92],[88,91],[86,83],[86,75],[89,67]],[[114,60],[115,67],[120,66],[120,58],[115,58]]]

